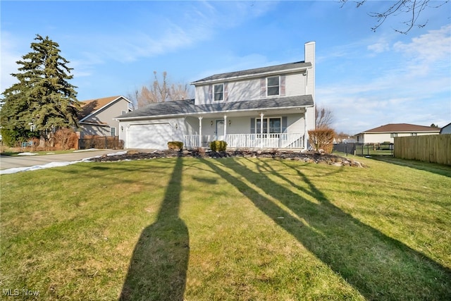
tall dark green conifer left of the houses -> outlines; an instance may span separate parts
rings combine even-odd
[[[32,51],[16,62],[20,73],[12,75],[18,82],[2,93],[0,118],[3,133],[18,138],[35,131],[43,147],[58,128],[78,126],[80,103],[76,87],[68,82],[73,68],[66,66],[69,61],[60,55],[59,45],[40,35],[35,40]]]

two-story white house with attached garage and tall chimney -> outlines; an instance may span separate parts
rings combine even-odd
[[[305,149],[315,127],[315,42],[304,61],[223,73],[192,82],[195,98],[149,104],[123,116],[126,148],[187,148],[225,140],[228,148]]]

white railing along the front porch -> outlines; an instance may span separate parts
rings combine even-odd
[[[184,135],[184,146],[199,147],[199,135]],[[202,147],[208,147],[209,142],[216,140],[214,135],[202,135]],[[228,134],[226,139],[228,148],[249,149],[302,149],[304,135],[292,134]]]

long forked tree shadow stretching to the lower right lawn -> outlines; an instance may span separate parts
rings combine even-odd
[[[267,161],[248,161],[248,164],[254,164],[255,170],[242,162],[237,159],[204,160],[366,299],[449,300],[450,269],[335,207],[309,176],[302,173],[300,166],[280,163],[297,174],[296,180],[290,180],[294,177],[283,176]],[[233,176],[228,169],[239,176]],[[270,175],[278,177],[284,184],[271,180]],[[240,178],[252,181],[291,212]],[[309,200],[312,198],[316,202]]]

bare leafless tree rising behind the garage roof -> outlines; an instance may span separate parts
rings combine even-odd
[[[143,86],[140,91],[135,90],[133,95],[128,95],[138,107],[155,102],[168,102],[173,100],[191,99],[193,92],[187,84],[168,81],[168,73],[163,72],[163,80],[160,81],[154,71],[154,82],[149,87]]]

